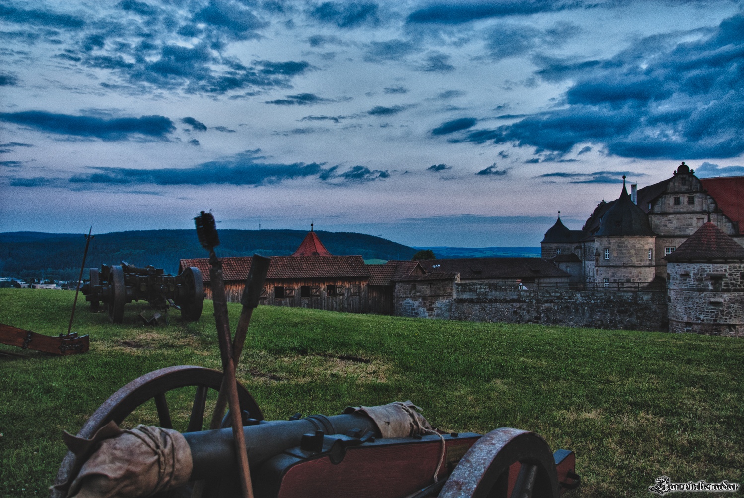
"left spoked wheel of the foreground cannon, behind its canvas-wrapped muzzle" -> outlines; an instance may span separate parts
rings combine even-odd
[[[185,432],[202,430],[208,390],[214,389],[219,392],[219,386],[221,385],[221,371],[185,365],[161,368],[160,370],[150,372],[132,380],[132,382],[126,384],[126,386],[119,389],[109,399],[104,401],[93,415],[91,415],[91,418],[86,421],[83,428],[77,433],[77,437],[92,438],[97,430],[108,424],[109,421],[115,421],[117,424],[121,424],[129,414],[149,400],[155,400],[160,427],[167,429],[173,428],[165,394],[174,389],[188,386],[196,386],[196,395],[194,396],[191,415]],[[263,420],[263,413],[246,388],[240,383],[237,383],[237,388],[240,409],[248,410],[251,418]],[[71,477],[71,473],[77,473],[79,470],[80,466],[75,465],[74,454],[68,451],[62,460],[60,469],[57,471],[57,479],[54,480],[54,484],[61,484],[67,481]],[[62,497],[64,497],[62,492],[57,490],[51,491],[50,498]]]

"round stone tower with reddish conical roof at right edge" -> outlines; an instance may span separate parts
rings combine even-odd
[[[744,336],[744,248],[703,224],[667,255],[671,332]]]

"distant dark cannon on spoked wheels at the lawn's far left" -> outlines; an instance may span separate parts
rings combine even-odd
[[[179,275],[166,274],[163,269],[148,265],[133,266],[126,261],[121,265],[103,264],[100,270],[90,269],[90,280],[80,288],[92,309],[103,304],[114,323],[124,319],[124,304],[147,301],[153,307],[167,311],[169,307],[181,310],[181,316],[196,322],[202,316],[204,284],[202,272],[196,267],[185,268]],[[157,322],[155,315],[154,322]],[[146,323],[151,322],[144,318]]]

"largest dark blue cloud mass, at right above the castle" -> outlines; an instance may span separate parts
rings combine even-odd
[[[641,39],[609,60],[556,64],[546,80],[572,77],[566,107],[493,130],[466,133],[475,143],[515,143],[568,153],[581,142],[644,159],[734,157],[744,153],[744,16],[706,36]],[[582,68],[577,71],[576,68]]]

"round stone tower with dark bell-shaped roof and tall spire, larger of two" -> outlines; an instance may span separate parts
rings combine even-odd
[[[652,281],[655,237],[646,213],[630,199],[623,176],[620,197],[607,209],[594,234],[594,281],[611,288]]]

